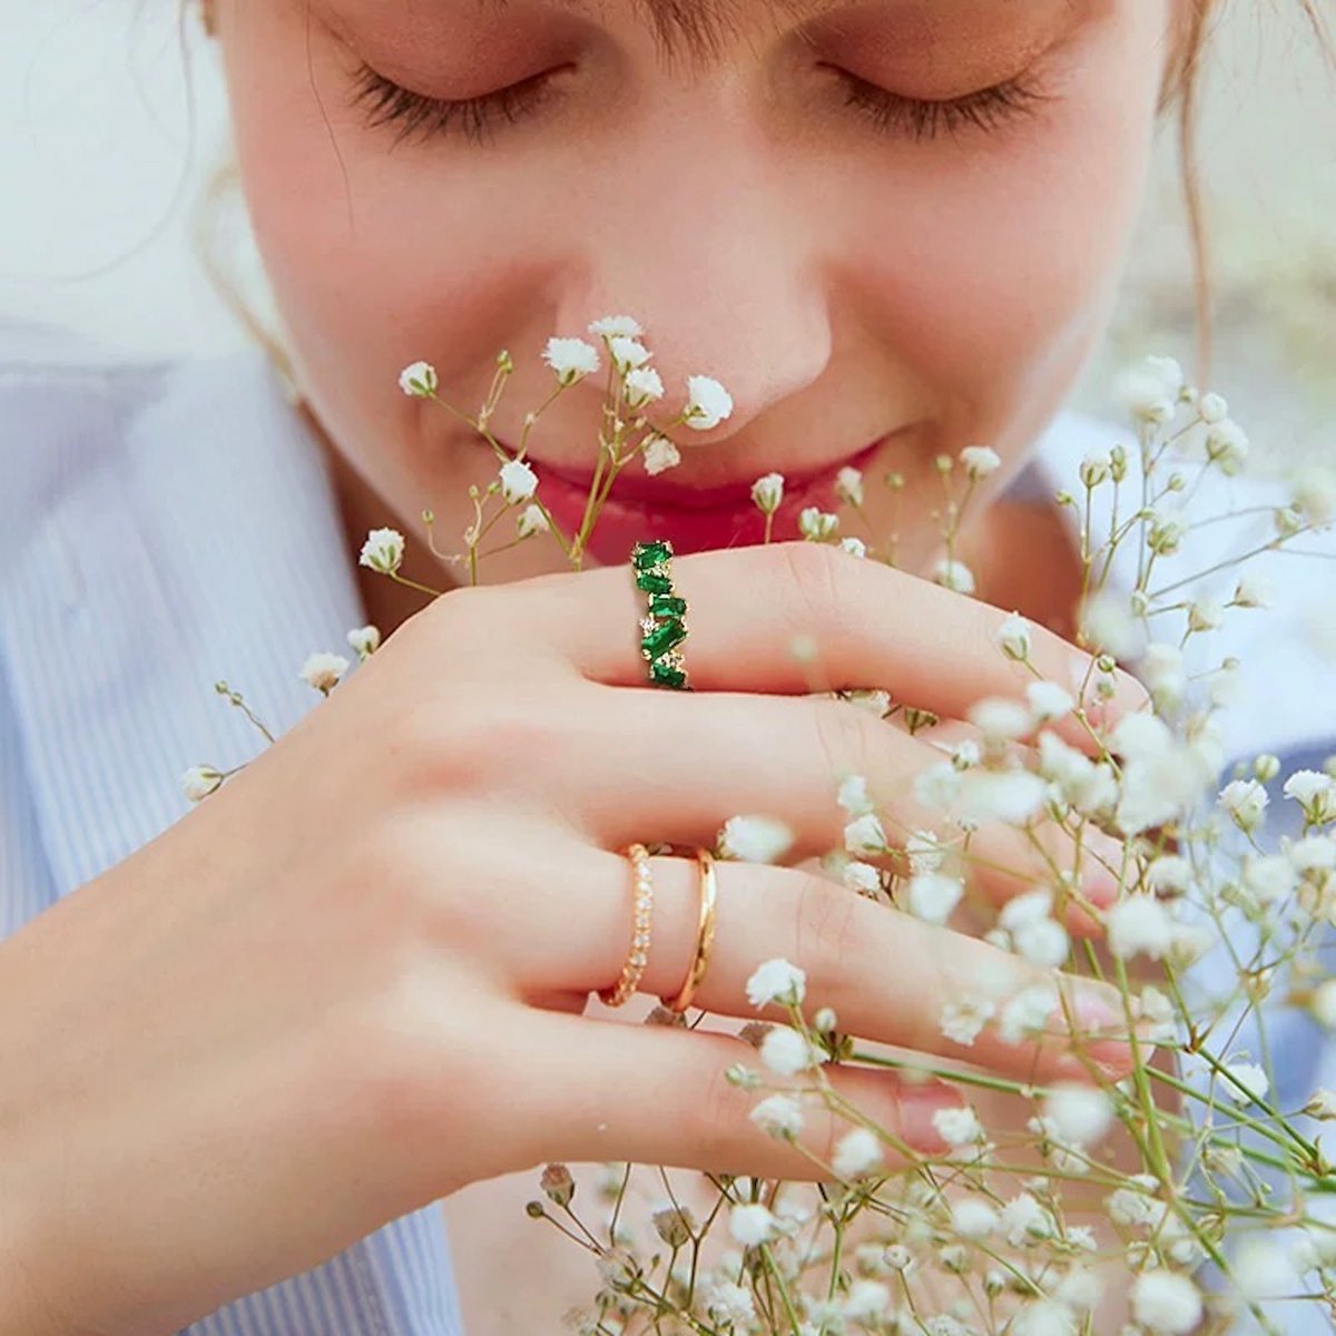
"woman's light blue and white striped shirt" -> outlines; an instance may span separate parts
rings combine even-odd
[[[1051,496],[1086,450],[1121,436],[1059,415],[1014,494]],[[179,819],[187,766],[228,770],[257,755],[253,725],[215,681],[240,691],[278,736],[321,700],[298,677],[306,656],[347,653],[345,636],[366,615],[323,458],[258,349],[127,362],[65,331],[0,323],[0,480],[8,935]],[[1209,526],[1201,541],[1224,542],[1229,528]],[[1184,560],[1204,569],[1210,552],[1194,540]],[[1336,673],[1299,629],[1332,569],[1277,570],[1283,607],[1261,616],[1265,635],[1246,639],[1244,623],[1245,643],[1213,641],[1246,669],[1226,712],[1228,755],[1272,751],[1288,774],[1336,749]],[[1307,1025],[1295,1039],[1287,1083],[1336,1085],[1333,1046]],[[460,1329],[433,1206],[188,1331]]]

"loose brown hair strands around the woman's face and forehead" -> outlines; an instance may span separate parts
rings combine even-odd
[[[506,0],[488,0],[502,8]],[[721,40],[736,28],[740,0],[632,0],[637,11],[649,19],[655,39],[665,55],[676,55],[685,45],[692,59],[707,57],[720,48]],[[807,8],[806,0],[770,0],[776,11]],[[1327,32],[1325,21],[1317,12],[1317,0],[1299,0],[1304,16],[1313,29],[1328,63],[1336,64],[1336,47]],[[212,32],[212,0],[199,0],[206,29]],[[182,43],[184,43],[184,15],[188,0],[182,4]],[[1193,293],[1196,309],[1196,370],[1198,385],[1209,383],[1212,335],[1210,250],[1208,244],[1206,211],[1197,163],[1197,115],[1201,94],[1201,71],[1212,24],[1218,17],[1221,0],[1185,0],[1177,13],[1173,53],[1160,88],[1157,114],[1164,116],[1177,111],[1178,176],[1188,216],[1192,248]],[[235,159],[228,155],[212,171],[192,215],[196,254],[210,283],[235,314],[253,338],[265,346],[275,366],[295,393],[291,359],[282,343],[265,329],[263,322],[240,295],[236,283],[227,274],[215,248],[219,207],[239,184]]]

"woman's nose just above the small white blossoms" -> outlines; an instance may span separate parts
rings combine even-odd
[[[830,301],[807,219],[783,174],[756,160],[763,150],[688,143],[684,175],[677,130],[657,162],[645,162],[640,143],[639,170],[608,168],[620,178],[616,200],[582,219],[578,254],[561,278],[558,333],[589,338],[607,361],[589,322],[635,317],[664,383],[648,410],[656,422],[679,414],[689,375],[720,381],[731,415],[709,430],[673,430],[705,445],[741,433],[822,375],[832,347]],[[604,385],[604,375],[589,377],[572,393],[592,406]]]

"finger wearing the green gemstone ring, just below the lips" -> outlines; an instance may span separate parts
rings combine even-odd
[[[1083,651],[1034,627],[1031,669],[997,643],[1003,611],[826,544],[695,553],[675,558],[671,573],[688,604],[689,635],[680,648],[697,689],[879,687],[899,701],[963,719],[986,696],[1022,696],[1038,672],[1073,693],[1089,683],[1082,700],[1102,724],[1149,701],[1134,677],[1116,669],[1116,695],[1105,708]],[[582,673],[613,685],[647,681],[639,628],[645,595],[629,562],[529,581],[525,597],[526,620]],[[799,636],[815,657],[795,656]],[[1079,719],[1057,731],[1073,745],[1093,745]]]

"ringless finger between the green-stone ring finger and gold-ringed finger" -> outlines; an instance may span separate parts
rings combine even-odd
[[[971,891],[993,906],[1037,886],[1062,886],[1059,912],[1090,934],[1098,923],[1082,902],[1108,906],[1117,892],[1118,846],[1097,830],[1082,832],[1083,855],[1051,820],[1033,835],[985,820],[966,839],[943,811],[915,796],[918,778],[949,764],[950,754],[847,701],[599,684],[587,689],[588,705],[573,711],[580,747],[570,748],[560,800],[604,847],[647,838],[713,847],[723,822],[755,814],[792,832],[784,862],[843,850],[852,815],[838,802],[840,783],[862,776],[895,850],[903,851],[911,838],[922,843],[927,832],[942,860],[959,864]],[[906,871],[900,858],[860,856]],[[1070,915],[1069,899],[1075,900]]]

